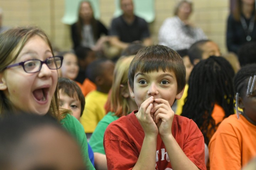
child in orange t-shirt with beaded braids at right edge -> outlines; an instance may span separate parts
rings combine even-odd
[[[211,170],[240,170],[256,156],[255,81],[256,64],[242,67],[234,78],[237,114],[223,120],[210,140]]]

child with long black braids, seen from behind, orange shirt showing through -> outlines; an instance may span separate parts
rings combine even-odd
[[[191,72],[181,115],[194,120],[207,145],[219,123],[234,114],[234,74],[229,62],[216,56],[202,60]]]

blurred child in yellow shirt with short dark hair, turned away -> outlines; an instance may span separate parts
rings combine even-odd
[[[98,59],[87,67],[87,76],[97,89],[91,91],[85,97],[85,109],[80,123],[84,126],[87,140],[90,139],[98,122],[105,116],[104,105],[107,101],[108,91],[111,89],[114,63],[107,59]]]

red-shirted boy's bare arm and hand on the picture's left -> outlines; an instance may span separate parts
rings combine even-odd
[[[139,158],[133,167],[133,170],[154,170],[156,159],[156,139],[158,135],[158,128],[151,115],[151,109],[153,108],[153,97],[145,100],[139,108],[136,117],[144,130],[145,137],[143,140],[142,148],[139,154]]]

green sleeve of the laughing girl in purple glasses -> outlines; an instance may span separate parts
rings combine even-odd
[[[75,137],[76,141],[78,141],[81,147],[82,156],[85,161],[86,169],[95,170],[89,159],[87,138],[84,132],[84,128],[80,122],[72,115],[67,114],[66,117],[60,121],[60,123],[66,130],[68,130],[71,135]]]

